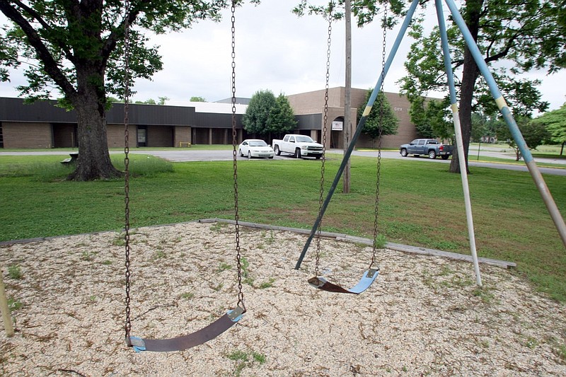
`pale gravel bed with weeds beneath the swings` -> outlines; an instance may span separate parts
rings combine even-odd
[[[2,376],[565,376],[566,310],[524,280],[466,262],[379,250],[359,296],[311,288],[306,237],[241,228],[248,312],[183,352],[125,346],[124,248],[117,233],[4,245],[16,335],[0,335]],[[140,228],[132,235],[132,335],[194,332],[237,301],[226,224]],[[323,239],[320,271],[352,286],[371,248]],[[8,274],[18,266],[20,274]],[[12,267],[12,272],[15,267]],[[16,306],[14,306],[15,308]]]

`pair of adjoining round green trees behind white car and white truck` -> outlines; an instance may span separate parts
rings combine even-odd
[[[250,99],[242,118],[243,128],[250,134],[265,137],[285,134],[296,127],[289,100],[283,94],[277,98],[272,91],[257,91]]]

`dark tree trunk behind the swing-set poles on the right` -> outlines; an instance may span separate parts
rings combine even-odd
[[[468,30],[474,41],[478,40],[478,30],[480,25],[480,11],[483,0],[466,1],[466,13],[463,18],[466,20]],[[468,170],[468,149],[470,147],[470,135],[472,133],[472,100],[475,88],[475,81],[478,79],[479,69],[475,64],[473,56],[466,46],[464,49],[464,63],[462,71],[462,86],[460,88],[460,124],[462,127],[462,139],[464,156],[466,157],[466,171]],[[460,163],[458,153],[454,153],[450,163],[450,173],[460,173]]]

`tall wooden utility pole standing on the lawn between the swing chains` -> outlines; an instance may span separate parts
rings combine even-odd
[[[344,98],[344,124],[342,133],[344,134],[344,155],[346,155],[350,139],[352,139],[352,120],[350,120],[350,108],[352,107],[352,7],[350,0],[345,2],[346,20],[346,73],[345,73],[345,98]],[[343,192],[350,193],[350,159],[342,175]]]

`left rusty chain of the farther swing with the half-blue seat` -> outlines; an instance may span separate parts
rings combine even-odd
[[[318,197],[318,228],[316,229],[316,260],[314,265],[314,274],[318,276],[318,263],[320,261],[320,232],[322,231],[322,211],[324,197],[324,170],[326,161],[326,129],[328,128],[328,89],[330,88],[330,44],[332,42],[332,10],[333,4],[330,4],[328,12],[328,39],[326,40],[326,85],[324,90],[324,118],[323,118],[323,157],[320,163],[320,195]]]

